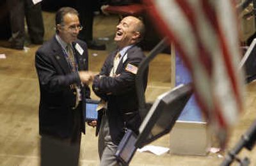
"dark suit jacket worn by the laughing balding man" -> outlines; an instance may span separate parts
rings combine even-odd
[[[93,81],[93,91],[100,98],[108,101],[108,121],[109,132],[113,141],[118,144],[124,136],[124,128],[129,128],[133,132],[138,133],[138,128],[141,124],[140,114],[138,112],[138,98],[135,88],[134,73],[125,70],[127,64],[139,66],[140,62],[145,58],[140,47],[133,46],[127,50],[127,56],[120,59],[116,75],[118,77],[109,77],[109,73],[113,68],[113,59],[116,51],[110,54],[100,72]],[[147,86],[147,75],[145,74],[144,86]],[[102,113],[100,112],[97,131],[99,131],[100,119]]]

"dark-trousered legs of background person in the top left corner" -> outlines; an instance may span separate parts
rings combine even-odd
[[[31,43],[40,45],[44,41],[44,22],[41,4],[34,4],[32,0],[8,0],[6,1],[10,10],[10,26],[12,37],[11,48],[22,50],[25,43],[25,21]]]

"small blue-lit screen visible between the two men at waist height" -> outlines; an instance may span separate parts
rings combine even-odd
[[[86,99],[86,112],[84,114],[85,121],[96,120],[98,117],[97,107],[99,100]]]

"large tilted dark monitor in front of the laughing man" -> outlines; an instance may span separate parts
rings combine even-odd
[[[192,93],[191,84],[180,84],[158,96],[140,126],[135,146],[142,147],[169,133]]]

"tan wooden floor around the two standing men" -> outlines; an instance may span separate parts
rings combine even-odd
[[[44,12],[45,40],[54,34],[54,13]],[[95,38],[107,44],[107,50],[89,50],[90,70],[99,72],[108,52],[115,44],[113,34],[118,17],[95,17]],[[0,165],[1,166],[36,166],[40,163],[39,135],[38,135],[38,80],[34,67],[35,51],[38,45],[26,43],[24,50],[13,50],[3,47],[6,41],[0,42],[0,54],[6,59],[0,59]],[[145,52],[148,54],[148,52]],[[150,63],[150,75],[146,92],[147,101],[154,101],[156,97],[171,88],[171,56],[159,54]],[[97,98],[92,94],[92,98]],[[246,85],[245,109],[241,114],[241,121],[237,123],[228,148],[233,147],[246,132],[253,120],[256,119],[256,83]],[[170,135],[153,142],[153,145],[170,147]],[[213,139],[214,140],[214,139]],[[182,142],[180,142],[182,144]],[[214,146],[214,141],[213,141]],[[171,149],[172,150],[172,149]],[[251,165],[256,165],[256,148],[252,151],[243,149],[239,157],[247,156]],[[152,153],[136,152],[131,165],[220,165],[223,153],[208,153],[206,156],[173,155],[166,153],[161,156]],[[95,128],[86,126],[86,135],[81,143],[81,166],[99,165],[97,155],[97,137]]]

